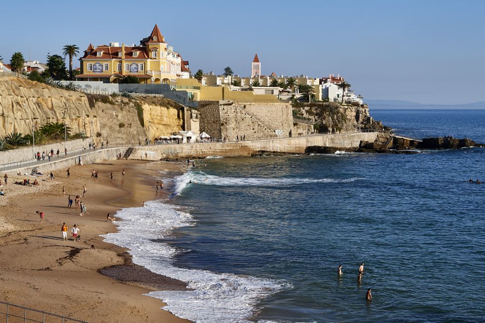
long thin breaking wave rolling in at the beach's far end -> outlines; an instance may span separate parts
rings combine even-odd
[[[310,179],[310,178],[256,178],[256,177],[222,177],[208,175],[204,172],[189,171],[174,179],[174,195],[180,194],[187,185],[216,185],[216,186],[290,186],[312,183],[350,183],[364,180],[361,177],[349,179]]]

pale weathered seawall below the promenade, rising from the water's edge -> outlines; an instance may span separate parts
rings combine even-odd
[[[359,147],[360,141],[373,142],[378,133],[332,134],[308,137],[274,138],[239,142],[211,142],[194,144],[162,144],[136,146],[130,159],[155,159],[165,157],[251,156],[258,151],[303,153],[309,146]]]

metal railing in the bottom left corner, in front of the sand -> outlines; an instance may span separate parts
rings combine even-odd
[[[0,302],[0,318],[5,318],[5,323],[16,323],[16,322],[23,322],[24,323],[69,323],[69,322],[78,322],[78,323],[88,323],[86,321],[71,319],[66,316],[57,315],[53,313],[48,313],[44,311],[39,311],[35,309],[31,309],[28,307],[15,305],[6,302]]]

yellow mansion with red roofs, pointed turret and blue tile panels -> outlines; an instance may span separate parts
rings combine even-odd
[[[189,78],[189,62],[164,41],[158,26],[151,35],[140,41],[140,46],[110,43],[94,48],[89,44],[81,61],[78,81],[102,81],[118,83],[132,75],[143,84],[170,84],[175,87],[177,79]]]

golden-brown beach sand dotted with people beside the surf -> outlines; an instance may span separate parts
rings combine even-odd
[[[30,187],[13,184],[25,176],[10,176],[3,186],[7,195],[0,196],[0,300],[92,323],[190,322],[143,295],[184,290],[185,283],[133,265],[126,249],[99,236],[116,231],[106,222],[107,213],[114,216],[122,207],[166,197],[153,188],[157,170],[181,172],[184,167],[182,162],[132,160],[76,165],[70,168],[70,179],[61,169],[53,172],[53,184],[45,174],[39,186]],[[99,171],[97,182],[91,179],[93,169]],[[85,198],[83,185],[88,188]],[[68,194],[80,195],[89,214],[80,216],[79,209],[67,208]],[[43,222],[36,211],[45,212]],[[61,238],[63,222],[69,227],[68,241]],[[80,228],[78,242],[72,240],[74,224]]]

